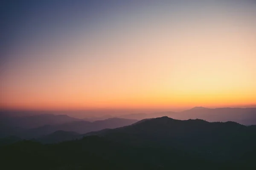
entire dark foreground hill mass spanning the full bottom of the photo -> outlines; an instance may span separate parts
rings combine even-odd
[[[161,117],[94,134],[98,136],[58,144],[22,141],[1,147],[2,166],[54,170],[256,168],[256,129],[235,122]]]

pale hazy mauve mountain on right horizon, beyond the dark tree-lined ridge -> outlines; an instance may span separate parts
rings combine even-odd
[[[204,119],[208,122],[239,122],[243,125],[256,125],[256,108],[204,108],[195,107],[182,112],[157,112],[157,113],[134,113],[118,116],[126,119],[149,119],[162,116],[172,117],[174,119]]]

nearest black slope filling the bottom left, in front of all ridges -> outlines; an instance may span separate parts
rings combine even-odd
[[[23,141],[2,147],[0,151],[5,155],[2,166],[7,165],[10,169],[176,170],[219,167],[184,150],[137,147],[98,136],[50,145]]]

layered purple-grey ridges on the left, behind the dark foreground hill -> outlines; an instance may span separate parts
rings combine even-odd
[[[76,119],[67,115],[34,115],[6,118],[1,121],[0,138],[16,136],[21,139],[40,138],[58,130],[88,133],[105,128],[116,128],[131,125],[138,120],[110,118],[94,122]],[[2,123],[3,122],[3,123]],[[31,128],[32,127],[32,128]],[[9,138],[8,138],[9,140]]]

